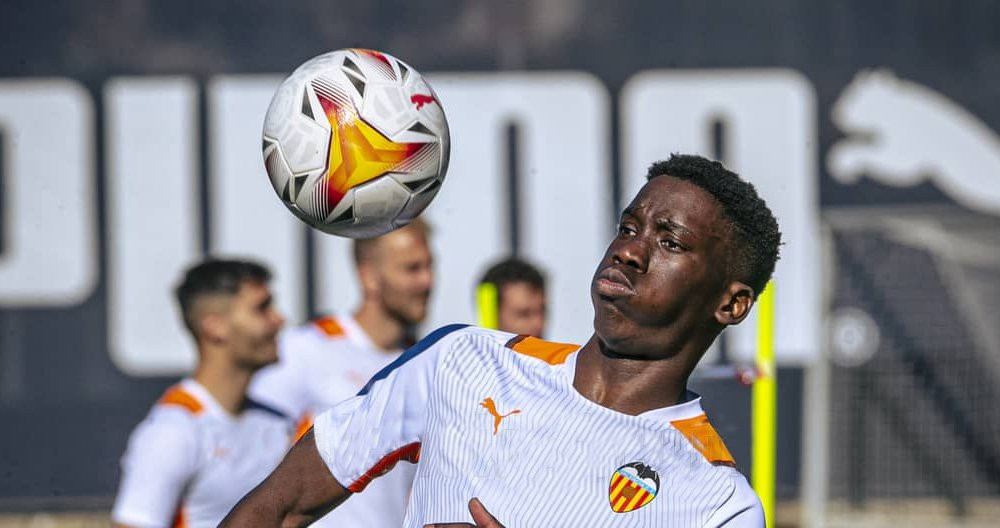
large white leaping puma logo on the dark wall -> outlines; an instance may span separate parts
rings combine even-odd
[[[966,207],[1000,212],[1000,136],[948,97],[888,70],[859,73],[837,98],[847,137],[827,156],[830,175],[909,187],[930,179]]]

